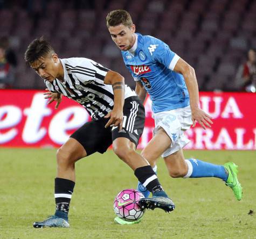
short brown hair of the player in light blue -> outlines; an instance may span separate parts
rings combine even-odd
[[[129,12],[126,10],[113,10],[108,13],[106,20],[107,27],[118,26],[120,24],[128,27],[133,25],[132,17],[130,17]]]

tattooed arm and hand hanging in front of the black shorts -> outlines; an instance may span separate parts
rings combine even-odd
[[[109,70],[104,78],[104,83],[112,85],[114,92],[114,107],[105,118],[109,118],[105,128],[108,126],[119,126],[121,131],[123,126],[123,104],[124,104],[124,78],[115,71]]]

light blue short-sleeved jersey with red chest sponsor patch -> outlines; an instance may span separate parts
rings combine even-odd
[[[135,81],[141,81],[149,93],[153,112],[188,106],[184,77],[174,71],[179,56],[157,38],[138,33],[136,38],[136,49],[122,52],[123,61]]]

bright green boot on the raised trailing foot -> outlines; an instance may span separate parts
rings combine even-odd
[[[240,201],[241,198],[243,197],[243,191],[241,184],[239,183],[237,178],[238,166],[233,162],[229,162],[224,164],[224,168],[227,170],[227,172],[229,172],[229,176],[227,177],[226,180],[226,185],[231,187],[231,189],[234,192],[234,196],[236,197],[237,200]]]

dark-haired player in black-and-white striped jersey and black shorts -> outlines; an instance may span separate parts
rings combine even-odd
[[[104,153],[113,143],[114,153],[134,170],[139,181],[153,193],[149,204],[171,212],[174,204],[158,181],[147,160],[135,149],[144,127],[144,107],[135,91],[124,84],[115,71],[84,57],[60,59],[48,41],[34,39],[25,52],[25,61],[44,79],[46,98],[58,104],[61,96],[86,108],[92,121],[75,131],[57,151],[55,178],[56,212],[35,228],[69,227],[68,210],[75,185],[75,162],[98,151]]]

